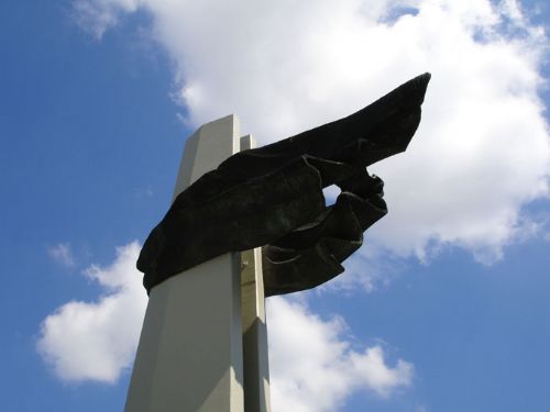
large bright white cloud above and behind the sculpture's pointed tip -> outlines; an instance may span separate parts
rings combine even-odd
[[[175,63],[190,124],[234,112],[263,143],[431,71],[407,155],[372,170],[386,181],[391,214],[367,238],[399,256],[426,259],[457,245],[491,263],[532,226],[522,207],[548,196],[549,133],[538,97],[548,37],[515,0],[76,4],[95,33],[146,11],[152,37]]]

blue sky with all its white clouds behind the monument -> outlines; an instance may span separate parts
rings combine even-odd
[[[135,260],[198,126],[266,144],[430,71],[370,168],[389,213],[267,299],[273,410],[550,410],[549,30],[537,0],[3,0],[1,409],[123,409]]]

